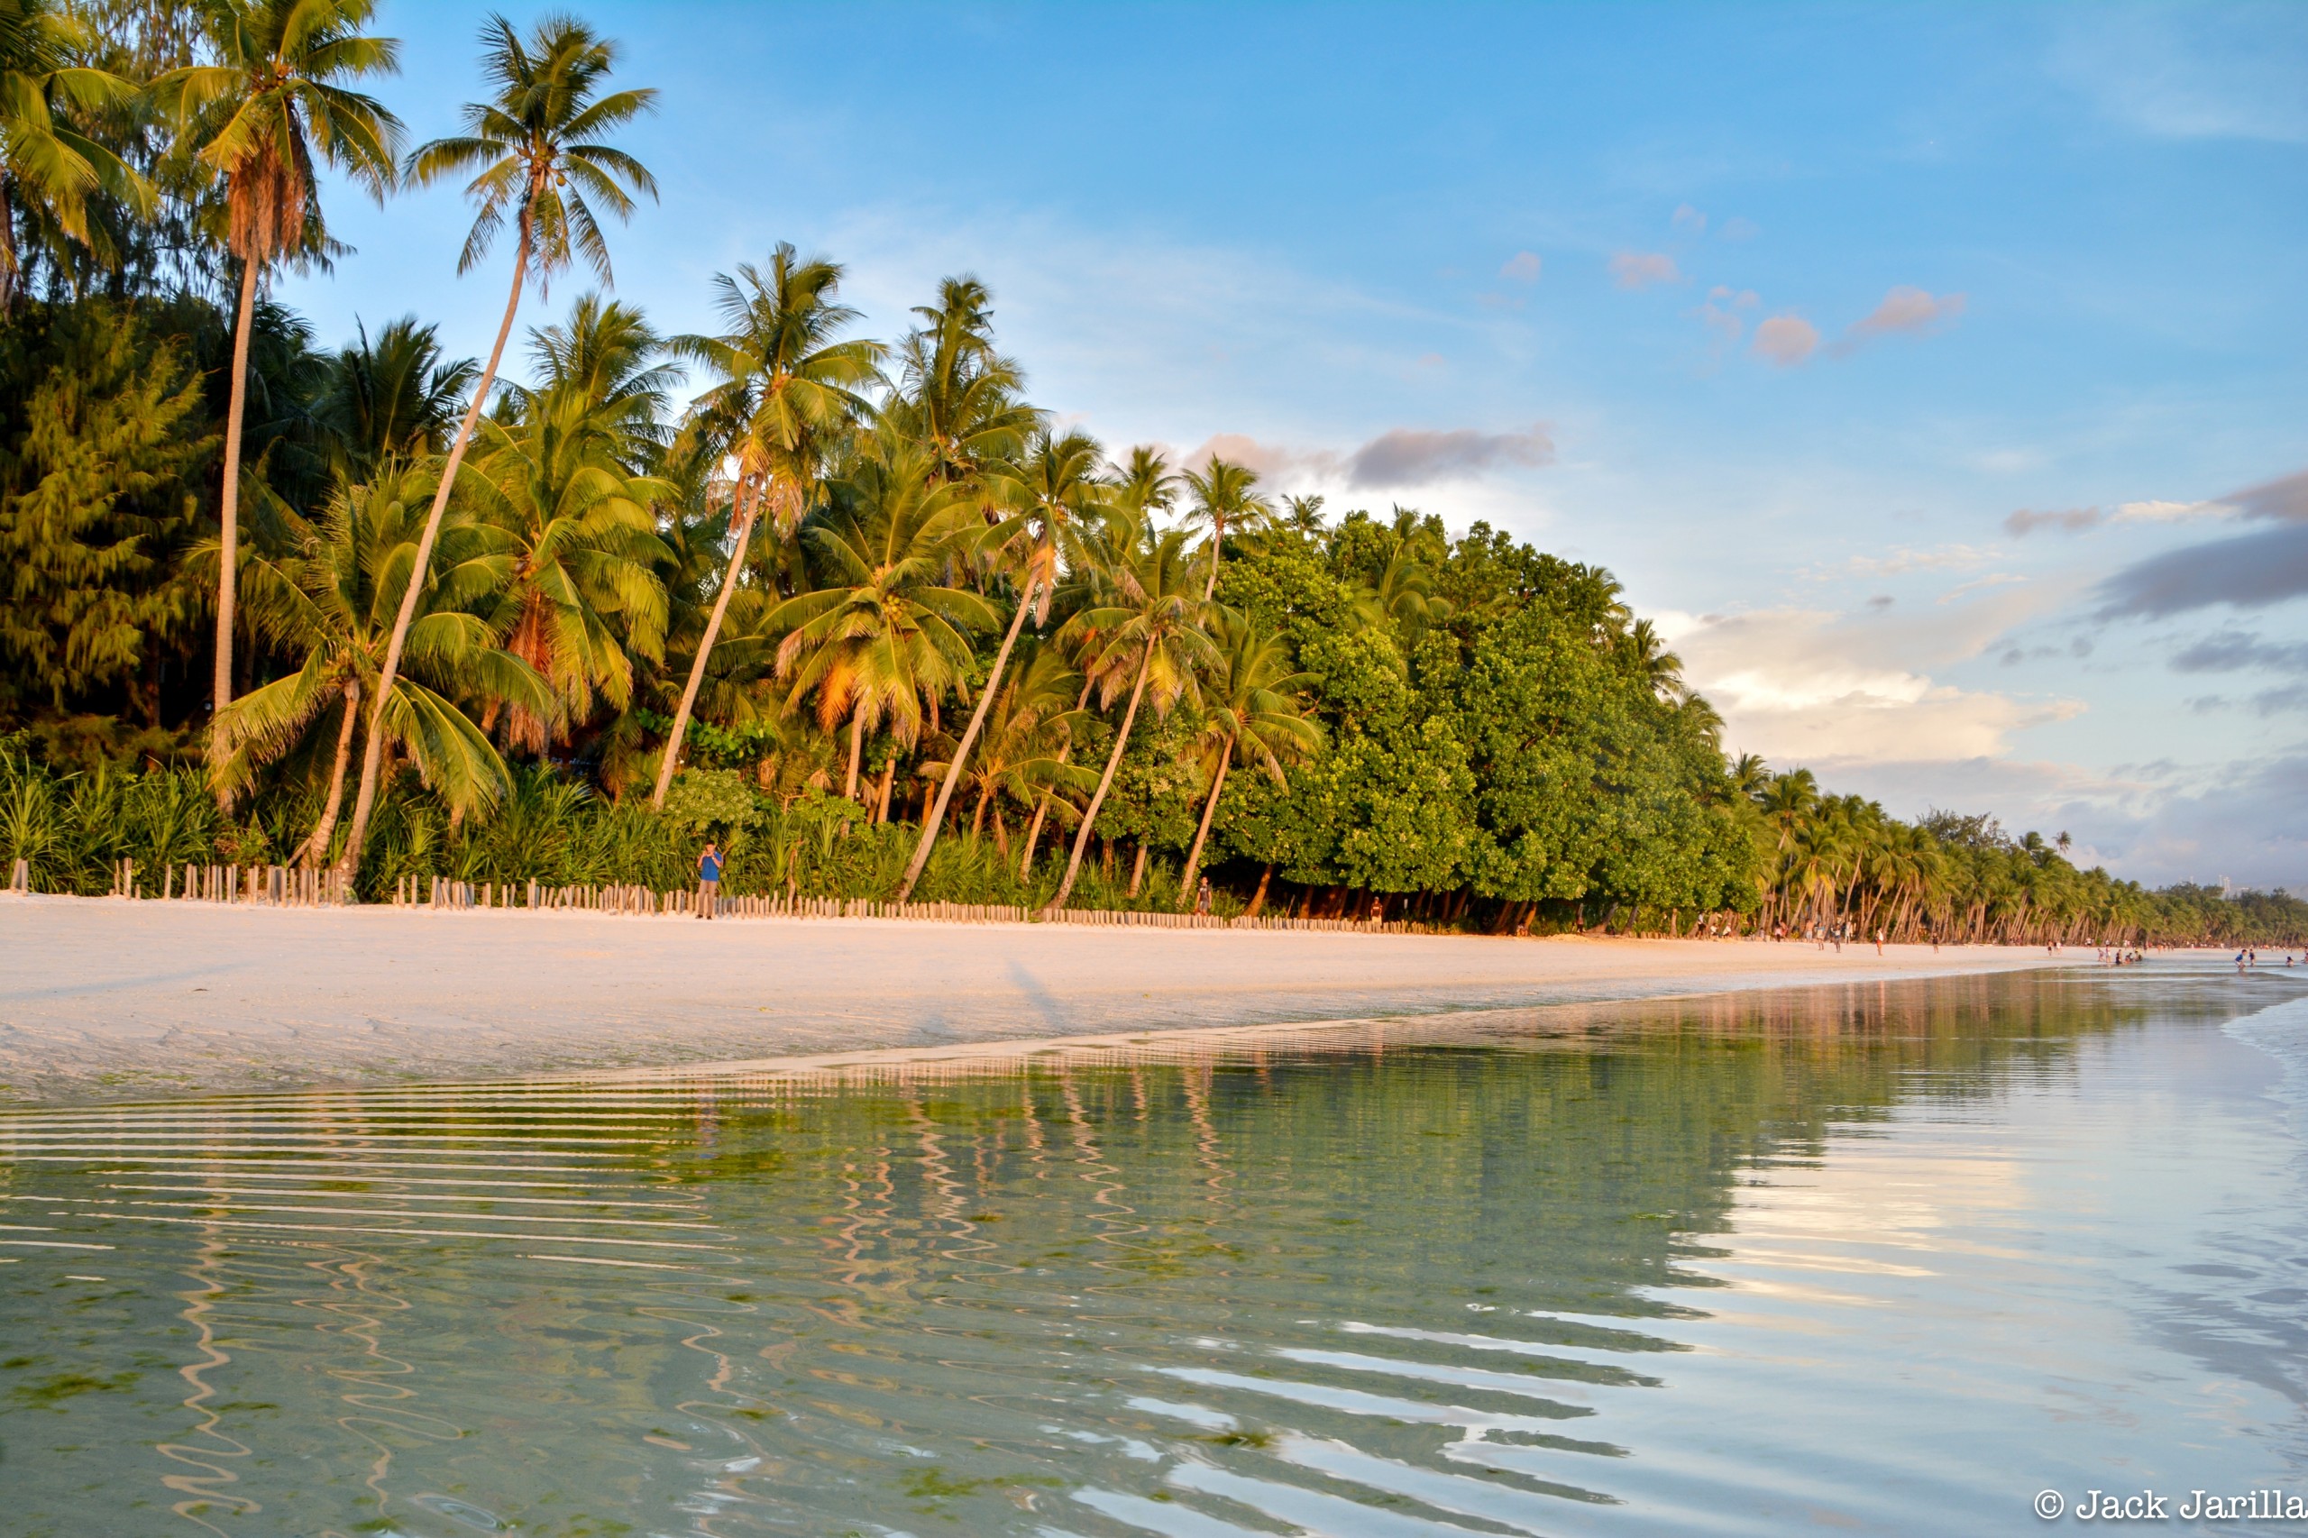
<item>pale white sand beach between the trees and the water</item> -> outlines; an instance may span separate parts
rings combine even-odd
[[[2089,961],[0,898],[0,1102],[496,1078],[1634,1000]]]

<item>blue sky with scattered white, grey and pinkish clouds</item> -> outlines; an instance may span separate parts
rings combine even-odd
[[[780,240],[884,339],[974,272],[1117,455],[1606,566],[1733,753],[2308,891],[2308,5],[582,14],[660,92],[662,330]],[[381,7],[413,141],[478,16]],[[325,199],[321,342],[487,351],[455,185]]]

